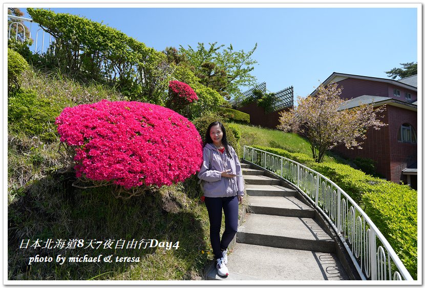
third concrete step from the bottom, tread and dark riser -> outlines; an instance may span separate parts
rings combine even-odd
[[[250,196],[248,209],[255,214],[314,218],[314,209],[294,196]]]

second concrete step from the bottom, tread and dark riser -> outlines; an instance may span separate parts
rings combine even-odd
[[[264,214],[245,216],[236,241],[276,248],[334,253],[334,240],[314,219]]]

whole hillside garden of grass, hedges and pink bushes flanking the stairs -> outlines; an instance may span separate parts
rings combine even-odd
[[[249,126],[248,115],[226,104],[238,85],[253,81],[255,48],[243,57],[244,71],[221,71],[243,51],[230,46],[220,58],[215,43],[200,45],[209,56],[199,62],[190,47],[158,52],[82,17],[28,12],[58,40],[55,53],[52,47],[43,55],[9,41],[10,280],[200,279],[213,256],[196,172],[205,130],[217,120],[240,158],[243,145],[260,145],[347,189],[416,278],[414,190],[338,164],[343,160],[331,154],[314,163],[305,139]],[[208,69],[217,77],[205,77]],[[150,247],[153,239],[162,244]],[[58,254],[114,261],[60,264]],[[29,264],[35,255],[55,259]]]

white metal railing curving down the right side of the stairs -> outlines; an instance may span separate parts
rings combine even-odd
[[[413,280],[387,239],[352,198],[307,166],[244,146],[243,159],[289,181],[324,215],[363,280]]]

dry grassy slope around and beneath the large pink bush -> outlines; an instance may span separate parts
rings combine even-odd
[[[36,91],[35,103],[48,99],[55,115],[38,118],[55,129],[54,118],[66,106],[100,99],[124,100],[96,85],[80,85],[60,74],[28,71],[24,89]],[[36,106],[31,109],[35,111]],[[30,109],[30,111],[31,111]],[[49,111],[52,111],[49,109]],[[9,110],[10,113],[10,110]],[[166,280],[194,279],[211,259],[208,216],[199,201],[195,179],[164,187],[131,200],[117,200],[106,187],[78,189],[73,174],[61,167],[58,139],[40,140],[25,127],[33,115],[8,126],[8,278],[23,280]],[[33,121],[32,121],[33,122]],[[29,123],[29,122],[28,122]],[[184,191],[184,192],[183,192]],[[157,239],[180,241],[175,250],[147,249],[18,249],[22,239]],[[31,242],[33,243],[33,242]],[[114,246],[115,248],[115,246]],[[34,263],[31,256],[115,255],[140,257],[138,263]],[[55,262],[55,261],[54,261]]]

